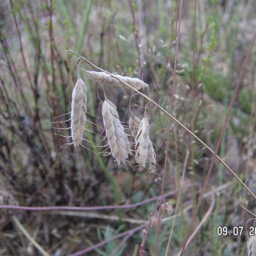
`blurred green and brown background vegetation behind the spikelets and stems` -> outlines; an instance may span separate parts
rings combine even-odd
[[[196,6],[195,6],[196,4]],[[157,164],[147,169],[118,166],[90,143],[73,148],[69,131],[52,128],[54,117],[70,112],[76,82],[76,58],[70,49],[109,72],[139,77],[150,96],[169,110],[180,0],[1,0],[0,1],[0,204],[26,206],[99,206],[134,204],[160,195],[168,117],[147,109]],[[254,0],[184,1],[177,56],[173,115],[214,149],[234,87],[256,29]],[[256,47],[247,65],[219,155],[256,193]],[[82,64],[82,68],[92,67]],[[135,71],[134,71],[135,70]],[[97,84],[81,74],[88,90],[88,120],[102,126]],[[121,121],[129,119],[129,90],[106,88]],[[145,92],[146,93],[146,92]],[[102,96],[102,87],[99,86]],[[143,116],[143,100],[132,110]],[[98,118],[99,117],[99,118]],[[55,120],[67,120],[69,115]],[[127,125],[127,124],[126,124]],[[69,121],[54,124],[68,128]],[[102,129],[87,123],[88,140]],[[165,192],[182,189],[182,201],[171,240],[170,255],[183,244],[198,192],[209,168],[210,153],[172,123]],[[97,149],[98,150],[98,149]],[[189,160],[180,184],[186,151]],[[134,165],[131,159],[131,165]],[[217,226],[245,226],[255,201],[224,167],[215,162],[207,192],[215,207],[184,255],[246,255],[247,238],[218,236]],[[210,195],[210,194],[208,194]],[[206,196],[196,222],[211,202]],[[166,198],[175,207],[177,193]],[[64,256],[146,223],[155,201],[132,209],[100,212],[3,211],[1,255],[41,255],[12,221],[20,223],[49,255]],[[252,223],[250,223],[252,225]],[[164,255],[172,219],[165,221],[158,255]],[[116,255],[138,255],[143,230]],[[145,255],[154,255],[156,230],[151,228]],[[111,255],[121,240],[87,255]]]

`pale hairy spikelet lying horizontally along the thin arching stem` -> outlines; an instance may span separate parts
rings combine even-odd
[[[116,78],[113,78],[110,76],[108,73],[105,72],[96,72],[96,71],[88,71],[86,70],[87,75],[89,78],[93,81],[96,81],[97,83],[101,82],[102,84],[105,85],[115,85],[115,86],[120,86],[120,85],[125,85],[122,84],[118,79],[124,81],[125,83],[129,84],[131,87],[134,87],[135,89],[139,90],[144,87],[148,87],[148,84],[143,82],[142,80],[138,78],[131,78],[129,76],[120,76],[120,75],[115,75]]]

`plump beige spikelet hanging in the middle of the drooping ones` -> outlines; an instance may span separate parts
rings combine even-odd
[[[102,117],[111,154],[118,164],[125,163],[131,154],[130,144],[120,123],[116,106],[108,99],[102,105]]]

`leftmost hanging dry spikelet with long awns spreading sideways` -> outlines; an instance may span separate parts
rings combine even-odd
[[[84,81],[81,78],[77,79],[71,102],[71,137],[75,147],[81,144],[83,138],[86,122],[86,93]]]

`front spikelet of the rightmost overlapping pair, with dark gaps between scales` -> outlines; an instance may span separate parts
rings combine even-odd
[[[139,130],[135,137],[135,159],[136,162],[145,166],[148,157],[149,145],[149,122],[146,117],[140,122]]]

